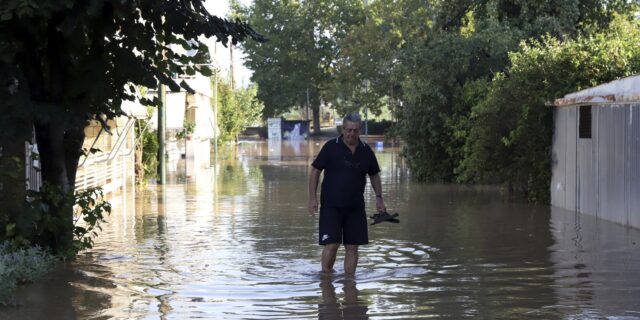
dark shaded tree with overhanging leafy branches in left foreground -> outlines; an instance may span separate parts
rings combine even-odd
[[[60,197],[73,195],[84,128],[123,115],[123,100],[140,98],[135,86],[189,89],[175,73],[210,71],[198,37],[226,44],[263,38],[247,24],[210,15],[202,0],[13,0],[0,3],[0,141],[24,141],[32,128],[42,178]],[[189,57],[178,48],[200,49]],[[51,197],[49,197],[51,198]],[[48,201],[47,214],[68,218],[70,206]],[[71,229],[41,243],[68,244]]]

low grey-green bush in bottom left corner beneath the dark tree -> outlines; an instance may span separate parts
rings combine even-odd
[[[51,271],[57,259],[40,247],[12,248],[0,243],[0,305],[15,303],[13,293],[19,284],[33,282]]]

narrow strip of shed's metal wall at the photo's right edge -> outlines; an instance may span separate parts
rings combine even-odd
[[[629,107],[627,137],[627,220],[640,228],[640,103]]]

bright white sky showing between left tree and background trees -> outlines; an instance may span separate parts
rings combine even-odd
[[[240,0],[240,3],[244,5],[250,5],[252,2],[253,0]],[[211,14],[219,16],[221,18],[226,17],[229,13],[228,0],[206,0],[204,2],[204,5]],[[223,76],[228,80],[230,76],[229,70],[231,65],[229,48],[225,48],[222,44],[215,43],[213,40],[208,41],[207,43],[209,43],[209,50],[211,52],[211,55],[216,57],[220,69],[222,70]],[[247,86],[251,81],[250,78],[252,72],[243,65],[243,58],[244,53],[242,52],[242,50],[237,47],[234,48],[233,61],[236,86]]]

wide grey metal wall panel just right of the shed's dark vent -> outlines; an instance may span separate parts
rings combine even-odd
[[[625,214],[625,126],[626,110],[620,106],[599,107],[597,132],[598,217],[627,223]]]

